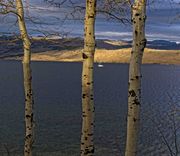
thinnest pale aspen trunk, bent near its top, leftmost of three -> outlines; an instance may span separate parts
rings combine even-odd
[[[18,23],[23,40],[24,58],[23,74],[24,74],[24,93],[25,93],[25,144],[24,156],[32,156],[33,144],[33,94],[32,94],[32,77],[30,68],[30,40],[26,30],[24,10],[21,0],[16,0],[16,9],[18,14]]]

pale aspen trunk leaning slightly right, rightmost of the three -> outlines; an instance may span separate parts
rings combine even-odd
[[[135,0],[132,6],[133,45],[129,65],[128,117],[125,156],[137,155],[141,106],[141,64],[144,48],[146,0]]]

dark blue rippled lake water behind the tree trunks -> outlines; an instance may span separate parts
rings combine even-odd
[[[33,62],[32,69],[36,120],[34,155],[79,155],[81,63]],[[143,65],[142,69],[139,156],[168,156],[158,128],[174,150],[171,116],[180,107],[180,66]],[[0,156],[7,151],[20,156],[24,133],[21,63],[0,61],[0,75]],[[105,64],[104,68],[95,65],[97,156],[123,155],[127,79],[126,64]],[[175,119],[179,115],[176,113]],[[179,131],[177,135],[180,136]]]

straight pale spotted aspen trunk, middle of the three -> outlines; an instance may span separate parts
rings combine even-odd
[[[95,52],[96,0],[86,0],[84,51],[82,69],[82,134],[81,156],[94,155],[93,68]]]

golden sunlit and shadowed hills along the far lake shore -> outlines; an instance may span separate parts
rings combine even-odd
[[[95,62],[129,63],[130,41],[97,40],[96,43]],[[82,38],[32,40],[32,61],[81,62],[82,51]],[[0,38],[0,59],[21,60],[22,56],[21,40]],[[148,42],[143,64],[180,64],[180,45],[163,40]]]

